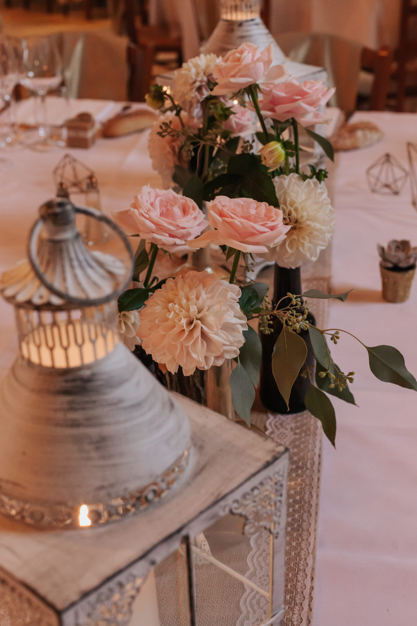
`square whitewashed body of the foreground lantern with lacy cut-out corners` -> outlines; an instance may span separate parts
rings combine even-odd
[[[178,401],[194,463],[159,506],[76,533],[0,516],[0,623],[283,626],[288,451]]]

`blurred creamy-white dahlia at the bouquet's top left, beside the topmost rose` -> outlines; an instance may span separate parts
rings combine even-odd
[[[219,58],[216,54],[200,54],[177,69],[172,96],[189,115],[201,116],[200,103],[210,93],[207,81],[211,77],[214,82],[213,68]]]

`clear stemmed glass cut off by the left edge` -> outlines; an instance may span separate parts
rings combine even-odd
[[[14,87],[19,82],[19,59],[14,41],[0,37],[0,100],[3,110],[0,124],[0,148],[7,148],[14,143],[14,129],[11,121],[11,101]],[[2,158],[1,168],[11,163]]]

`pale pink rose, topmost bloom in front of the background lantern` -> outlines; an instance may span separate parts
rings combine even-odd
[[[253,83],[259,83],[262,78],[273,81],[286,75],[282,65],[274,65],[269,69],[271,63],[271,44],[259,52],[253,43],[243,43],[219,59],[214,66],[213,75],[218,84],[211,93],[214,96],[236,93]]]

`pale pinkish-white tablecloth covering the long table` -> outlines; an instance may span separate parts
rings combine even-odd
[[[81,105],[89,110],[89,103]],[[100,106],[104,110],[108,103],[95,101],[95,114]],[[394,237],[417,244],[417,214],[409,182],[399,196],[373,194],[365,170],[387,151],[408,167],[406,141],[414,134],[417,141],[417,116],[357,113],[355,119],[374,121],[385,137],[336,157],[333,287],[336,293],[354,291],[344,304],[332,304],[329,326],[347,329],[370,346],[398,347],[416,374],[417,287],[404,304],[383,302],[376,244]],[[141,133],[101,139],[90,150],[68,150],[96,172],[108,215],[128,207],[142,185],[161,184],[147,141],[147,133]],[[7,155],[13,166],[0,172],[1,271],[24,257],[28,230],[39,205],[54,194],[52,170],[63,154]],[[334,400],[337,449],[324,444],[314,623],[411,626],[417,623],[417,396],[375,379],[366,352],[353,339],[343,338],[333,352],[343,369],[356,370],[352,391],[359,406]],[[13,310],[0,302],[0,369],[9,367],[15,354]]]

